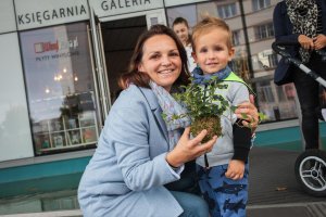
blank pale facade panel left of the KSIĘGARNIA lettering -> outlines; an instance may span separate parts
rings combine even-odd
[[[14,8],[12,0],[0,1],[0,34],[16,30]]]

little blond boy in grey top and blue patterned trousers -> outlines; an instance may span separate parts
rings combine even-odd
[[[216,17],[206,16],[192,30],[193,59],[198,67],[192,72],[193,82],[202,84],[217,76],[217,82],[226,89],[216,89],[229,105],[249,101],[248,86],[228,67],[235,49],[228,25]],[[210,85],[210,84],[209,84]],[[218,102],[216,102],[218,103]],[[246,216],[248,201],[248,155],[251,146],[251,129],[230,111],[221,117],[222,133],[212,152],[197,159],[199,186],[209,203],[212,217]]]

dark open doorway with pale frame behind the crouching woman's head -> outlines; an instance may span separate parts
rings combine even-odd
[[[99,44],[102,47],[100,51],[103,56],[103,72],[106,72],[103,78],[108,79],[111,103],[121,92],[117,80],[128,69],[138,37],[154,24],[166,24],[163,10],[100,18],[100,24],[97,25],[101,37]]]

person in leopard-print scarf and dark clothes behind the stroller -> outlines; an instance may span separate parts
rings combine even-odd
[[[288,48],[289,53],[326,79],[326,62],[315,52],[326,47],[326,1],[284,0],[275,7],[273,22],[276,41],[298,42],[300,46]],[[277,85],[294,82],[305,149],[318,149],[318,82],[285,59],[277,65],[274,81]]]

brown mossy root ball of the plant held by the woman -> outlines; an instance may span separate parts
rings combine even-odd
[[[203,129],[208,130],[206,136],[203,138],[202,143],[211,140],[215,135],[222,136],[221,117],[220,116],[208,116],[197,118],[191,123],[190,132],[192,137],[199,135]]]

